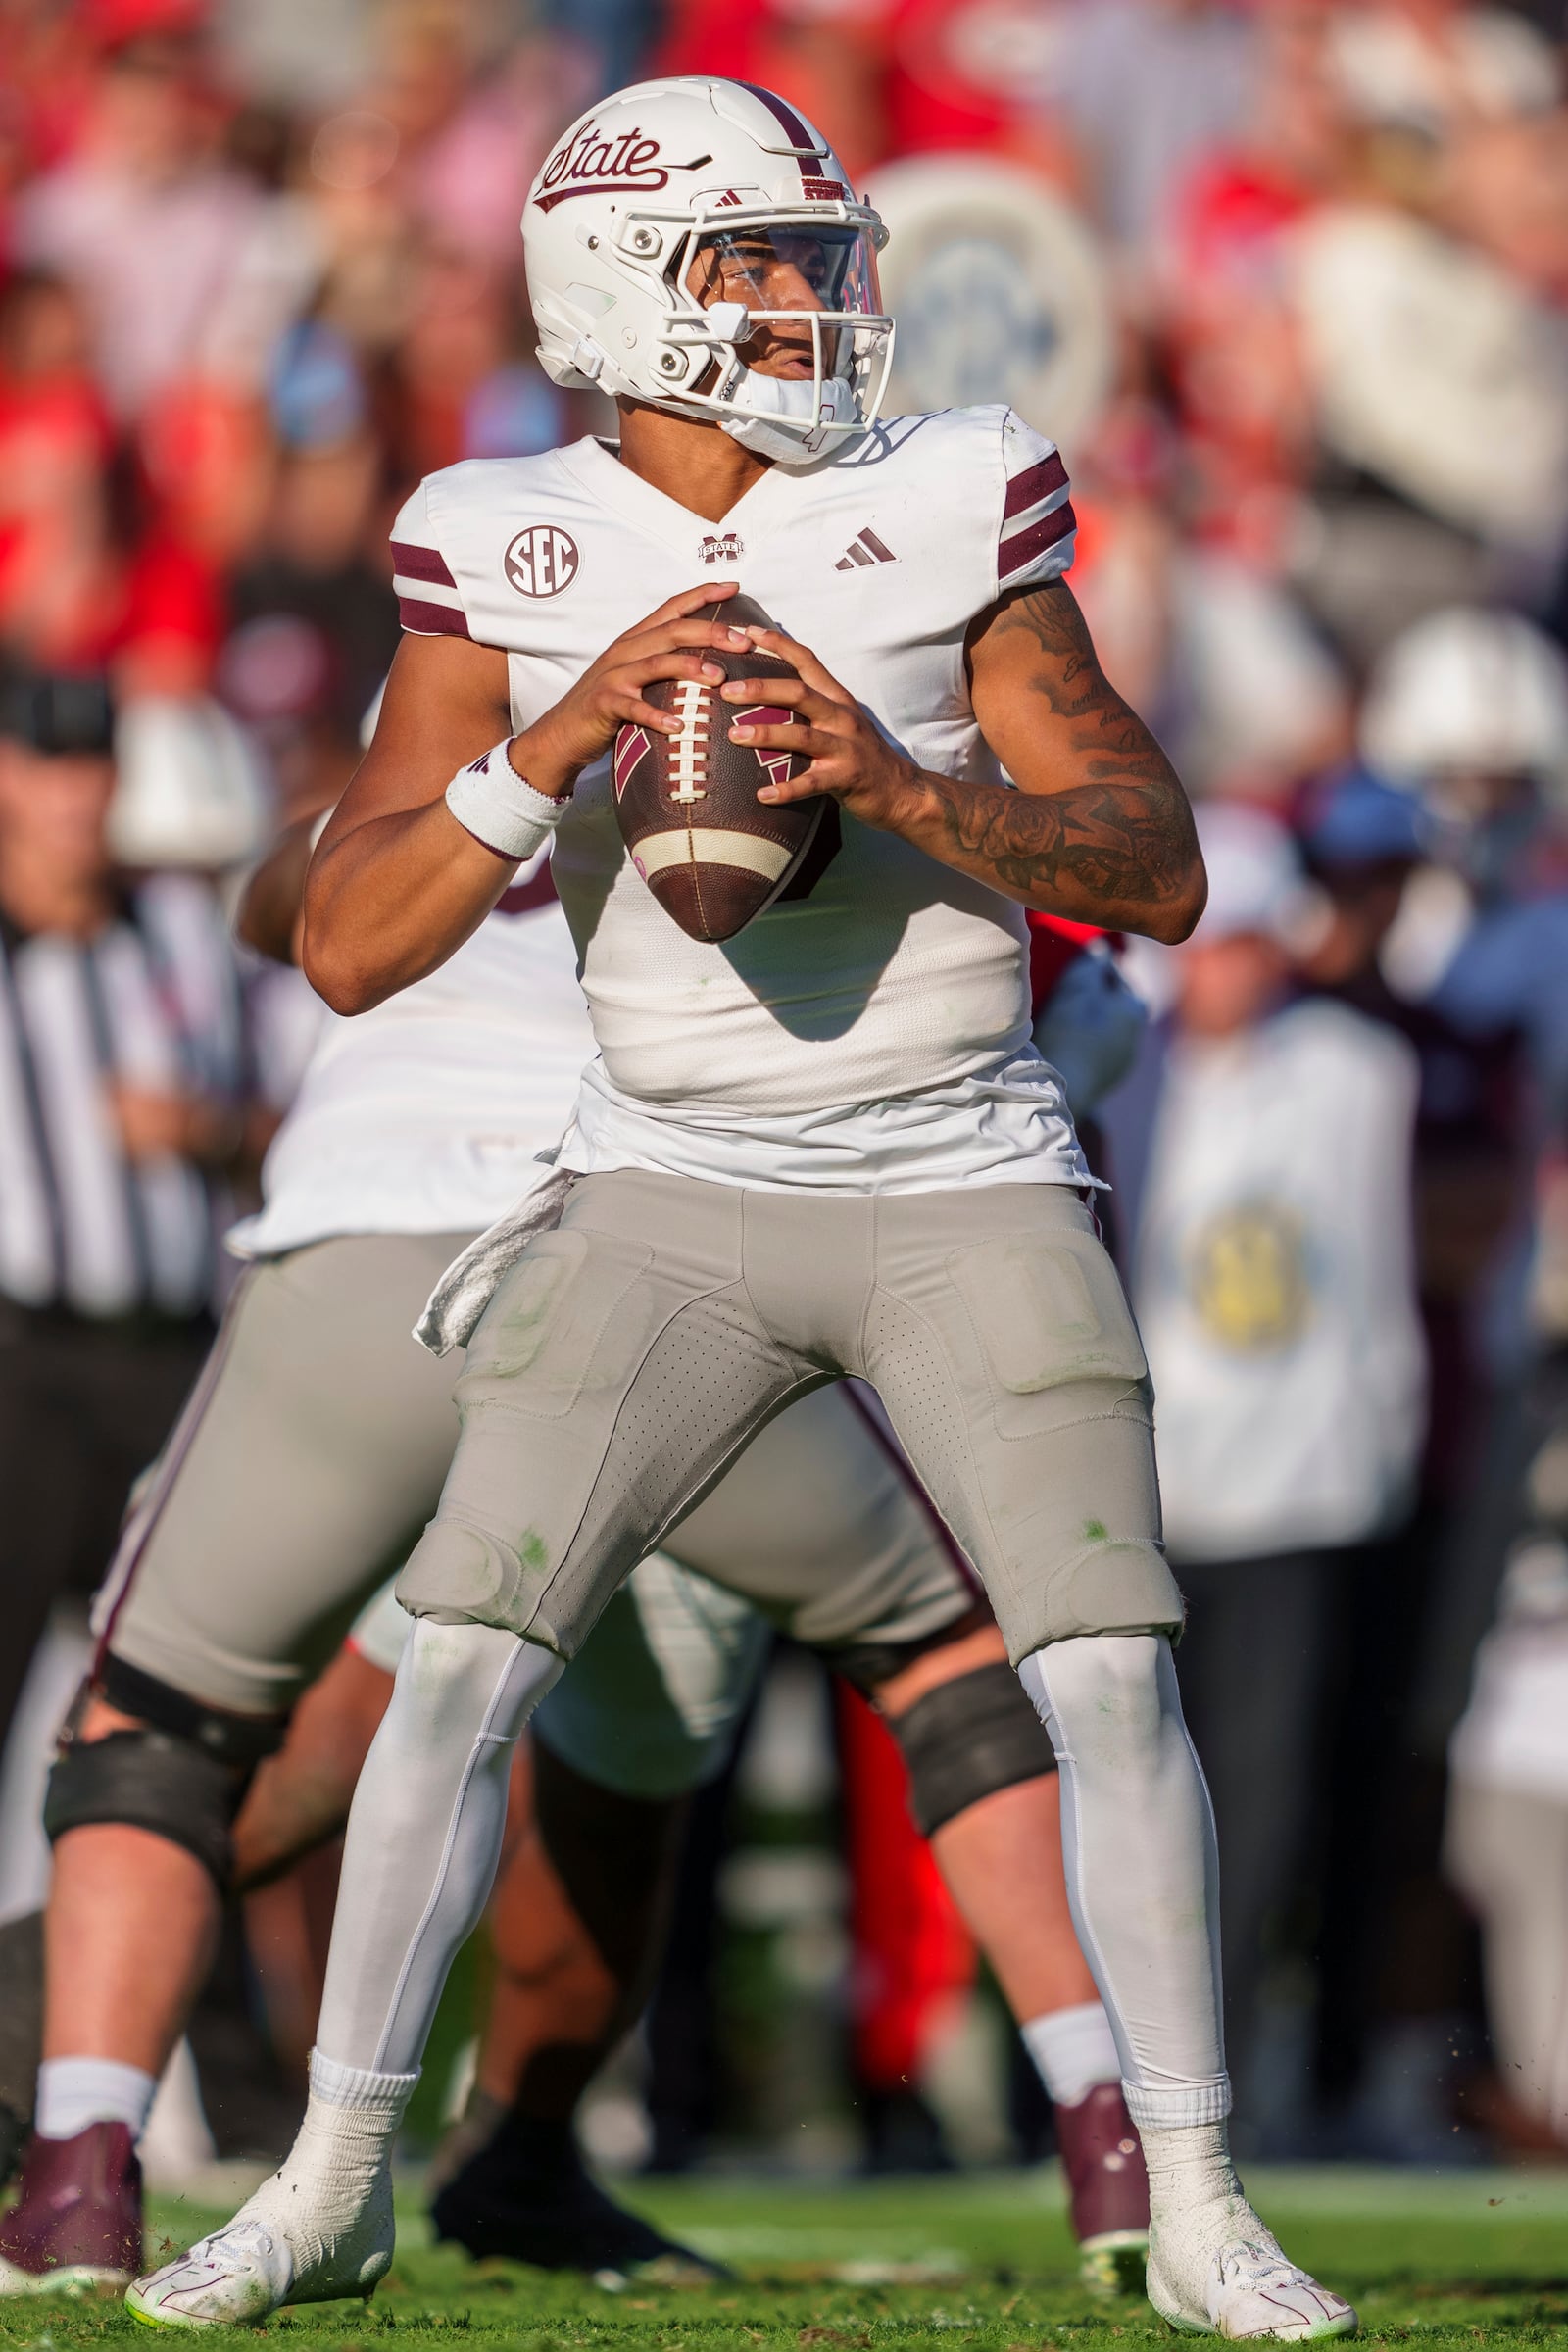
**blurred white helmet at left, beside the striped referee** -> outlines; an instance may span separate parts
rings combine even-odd
[[[221,873],[266,847],[273,795],[249,741],[205,694],[139,694],[115,717],[108,849],[120,866]]]

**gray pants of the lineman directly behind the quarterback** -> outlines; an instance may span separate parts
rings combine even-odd
[[[99,1592],[94,1625],[118,1658],[209,1708],[273,1715],[299,1698],[440,1503],[458,1442],[451,1367],[409,1329],[465,1242],[346,1235],[247,1270]],[[919,1642],[973,1606],[907,1468],[832,1390],[783,1414],[670,1550],[830,1653]],[[635,1616],[630,1602],[616,1613]],[[630,1625],[607,1630],[637,1649]],[[675,1738],[661,1661],[623,1663],[621,1705],[658,1705]],[[592,1698],[604,1715],[609,1689],[590,1684],[576,1712]],[[609,1729],[637,1745],[607,1724],[599,1750]],[[675,1752],[665,1769],[682,1769]]]

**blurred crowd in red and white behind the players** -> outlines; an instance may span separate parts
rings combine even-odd
[[[717,71],[886,188],[903,402],[1063,442],[1072,583],[1201,802],[1211,913],[1117,950],[1150,1021],[1098,1150],[1246,2133],[1568,2150],[1563,35],[1561,0],[0,0],[0,1910],[49,1613],[310,1044],[233,877],[353,771],[409,487],[604,428],[531,355],[550,139]],[[853,1710],[802,1658],[769,1689],[604,2145],[776,2145],[846,2082],[886,2161],[1037,2145]]]

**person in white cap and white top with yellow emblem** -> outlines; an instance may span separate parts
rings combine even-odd
[[[1338,1588],[1406,1512],[1420,1454],[1415,1056],[1291,995],[1309,898],[1281,826],[1211,802],[1199,833],[1208,913],[1103,1120],[1190,1604],[1178,1672],[1225,1853],[1246,2112],[1265,1955],[1314,1830]]]

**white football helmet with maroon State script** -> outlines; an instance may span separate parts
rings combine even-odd
[[[783,466],[875,421],[893,358],[877,292],[886,230],[820,132],[771,92],[710,75],[616,92],[550,153],[522,240],[555,383],[715,419]],[[705,306],[693,275],[715,296],[757,299]],[[823,308],[764,308],[780,285]],[[748,367],[759,325],[802,320],[811,376]]]

